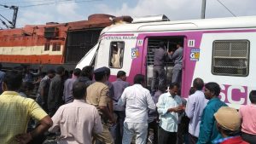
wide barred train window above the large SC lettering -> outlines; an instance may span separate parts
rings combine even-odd
[[[249,73],[249,41],[214,41],[212,73],[246,77]]]

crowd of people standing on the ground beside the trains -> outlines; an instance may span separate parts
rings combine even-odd
[[[217,83],[201,78],[186,101],[177,82],[159,84],[152,93],[142,74],[129,84],[119,71],[109,82],[108,67],[85,66],[67,78],[58,66],[33,83],[39,72],[23,70],[0,71],[0,143],[38,143],[45,135],[58,135],[63,144],[256,143],[256,90],[238,112],[220,101]],[[34,101],[28,97],[37,83]]]

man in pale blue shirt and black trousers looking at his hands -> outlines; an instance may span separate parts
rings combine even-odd
[[[160,95],[157,111],[160,115],[158,142],[160,144],[176,144],[178,112],[183,111],[182,100],[177,95],[179,84],[172,83],[169,92]]]

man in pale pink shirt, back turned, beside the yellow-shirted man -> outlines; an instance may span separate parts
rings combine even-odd
[[[50,132],[61,130],[60,144],[91,144],[92,133],[102,133],[102,121],[96,107],[84,101],[87,86],[83,82],[73,84],[74,101],[61,106],[52,117]],[[84,113],[86,112],[86,114]]]

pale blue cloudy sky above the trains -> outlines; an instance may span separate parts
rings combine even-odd
[[[90,14],[131,17],[166,14],[170,20],[200,19],[201,2],[202,0],[0,0],[2,5],[19,7],[17,27],[87,20]],[[206,18],[232,17],[233,14],[256,15],[255,5],[256,0],[207,0]],[[13,10],[0,6],[0,14],[12,20]],[[0,16],[0,19],[4,20],[3,17]],[[1,27],[5,28],[0,23]]]

